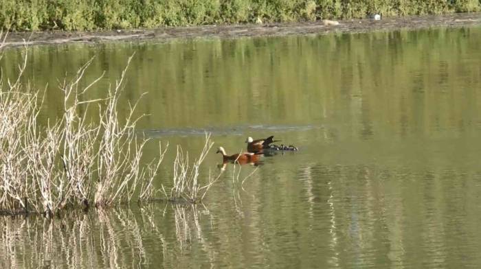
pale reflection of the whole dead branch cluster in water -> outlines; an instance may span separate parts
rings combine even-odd
[[[183,260],[177,253],[188,252],[197,240],[213,260],[212,246],[199,221],[209,211],[197,207],[176,204],[168,212],[150,206],[136,213],[118,209],[70,211],[52,220],[1,217],[0,267],[171,267]],[[159,221],[166,213],[172,213],[172,221],[162,226]]]

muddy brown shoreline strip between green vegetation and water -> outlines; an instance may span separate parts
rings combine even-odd
[[[262,25],[205,25],[195,27],[163,27],[148,30],[117,30],[104,32],[14,32],[8,34],[5,47],[54,45],[65,43],[104,43],[111,41],[166,42],[189,38],[239,38],[245,36],[287,36],[293,34],[328,34],[331,32],[362,33],[373,31],[418,30],[429,27],[466,27],[481,25],[481,13],[460,13],[443,16],[406,16],[380,21],[357,19],[324,25],[322,21],[304,23],[269,23]]]

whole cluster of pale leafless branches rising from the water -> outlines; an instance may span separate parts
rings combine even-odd
[[[153,180],[166,146],[163,149],[159,144],[157,159],[144,165],[142,151],[148,139],[135,132],[137,104],[129,105],[126,119],[120,121],[118,115],[132,56],[107,96],[96,100],[89,99],[87,93],[103,74],[81,86],[85,85],[82,80],[92,62],[89,60],[73,79],[60,83],[61,116],[39,124],[44,95],[22,82],[27,47],[24,55],[15,81],[0,75],[0,211],[52,215],[69,206],[108,207],[135,198],[152,198],[158,191]],[[87,117],[91,110],[98,111],[96,119]],[[169,194],[163,187],[166,198],[195,202],[205,195],[213,180],[199,187],[199,167],[211,147],[207,136],[201,156],[192,167],[188,154],[184,156],[177,148],[173,187]]]

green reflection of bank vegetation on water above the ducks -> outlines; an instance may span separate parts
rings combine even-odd
[[[438,124],[454,128],[464,124],[467,128],[466,117],[475,115],[471,108],[477,107],[478,98],[476,87],[470,85],[480,79],[478,61],[472,57],[479,55],[480,36],[480,28],[471,27],[102,44],[95,48],[98,58],[85,75],[86,80],[93,80],[106,70],[107,78],[115,78],[122,62],[137,51],[132,60],[135,69],[126,75],[126,98],[120,102],[127,104],[148,91],[148,98],[139,103],[139,112],[152,116],[139,121],[140,128],[346,120],[353,130],[342,135],[368,137],[387,130],[396,134],[433,132]],[[66,45],[31,50],[30,58],[35,61],[27,65],[25,77],[34,78],[39,86],[49,84],[46,113],[56,117],[61,111],[56,78],[62,78],[65,71],[76,71],[91,58],[93,49]],[[467,58],[471,60],[464,60]],[[14,78],[21,52],[5,51],[4,60],[4,77]],[[100,81],[98,89],[108,86],[107,82]],[[101,97],[100,91],[90,94]],[[469,106],[463,105],[465,100]],[[127,110],[119,113],[124,117]],[[416,117],[420,113],[424,116]]]

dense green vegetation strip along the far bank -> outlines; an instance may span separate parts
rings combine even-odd
[[[481,10],[481,0],[2,0],[0,27],[110,30]]]

